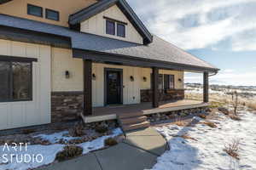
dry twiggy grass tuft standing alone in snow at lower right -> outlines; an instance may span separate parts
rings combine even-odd
[[[240,139],[232,139],[230,144],[224,145],[224,151],[229,154],[230,156],[239,160],[238,151],[240,150]]]

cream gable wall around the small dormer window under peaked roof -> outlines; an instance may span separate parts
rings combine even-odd
[[[106,19],[104,19],[103,16],[127,23],[125,26],[125,37],[106,34]],[[115,29],[115,31],[116,30],[117,29]],[[126,18],[125,14],[123,14],[116,5],[113,5],[100,14],[96,14],[88,20],[84,20],[81,23],[81,31],[100,35],[103,37],[112,37],[127,42],[143,44],[143,37],[141,37],[137,30],[131,25],[131,22]]]

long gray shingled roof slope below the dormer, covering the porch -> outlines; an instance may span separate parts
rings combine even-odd
[[[5,28],[3,28],[5,27]],[[9,28],[15,28],[23,30],[20,34],[11,31]],[[37,40],[37,37],[30,36],[24,39],[24,36],[31,34],[33,31],[36,34],[47,34],[52,39],[62,37],[63,39],[58,42],[54,42],[57,47],[62,47],[59,43],[63,43],[66,48],[73,48],[79,51],[83,51],[87,57],[93,57],[100,54],[102,57],[108,56],[108,58],[114,59],[134,59],[135,64],[137,61],[143,60],[150,62],[150,65],[144,66],[163,66],[162,68],[168,69],[181,69],[190,71],[210,71],[217,72],[218,68],[208,64],[202,59],[196,58],[194,55],[183,51],[180,48],[172,45],[170,42],[162,40],[160,37],[154,36],[154,41],[148,45],[141,45],[134,42],[125,42],[109,37],[101,37],[93,34],[83,33],[79,31],[72,31],[67,27],[55,26],[46,24],[35,20],[21,19],[5,14],[0,14],[0,28],[3,28],[2,33],[0,29],[0,38],[14,39],[15,41],[25,42],[38,42],[44,43],[47,39]],[[7,31],[10,32],[8,33]],[[43,35],[44,37],[45,35]],[[67,42],[67,39],[71,41]],[[41,41],[41,42],[40,42]],[[42,42],[44,41],[44,42]],[[55,40],[56,41],[56,40]],[[45,42],[45,44],[50,44]],[[70,47],[71,46],[71,47]],[[62,47],[62,48],[63,48]],[[73,53],[73,57],[76,56]]]

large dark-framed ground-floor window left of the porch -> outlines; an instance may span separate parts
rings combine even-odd
[[[32,100],[32,62],[0,60],[0,102]]]

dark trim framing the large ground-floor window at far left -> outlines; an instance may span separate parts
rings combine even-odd
[[[3,99],[0,100],[0,103],[9,103],[9,102],[19,102],[19,101],[32,101],[33,100],[33,65],[32,62],[37,62],[38,59],[34,58],[24,58],[24,57],[12,57],[12,56],[5,56],[5,55],[0,55],[0,61],[5,61],[9,62],[9,99]],[[20,62],[20,63],[28,63],[30,65],[30,83],[29,83],[29,98],[28,99],[14,99],[13,98],[13,83],[14,83],[14,78],[13,78],[13,67],[12,63],[13,62]]]

